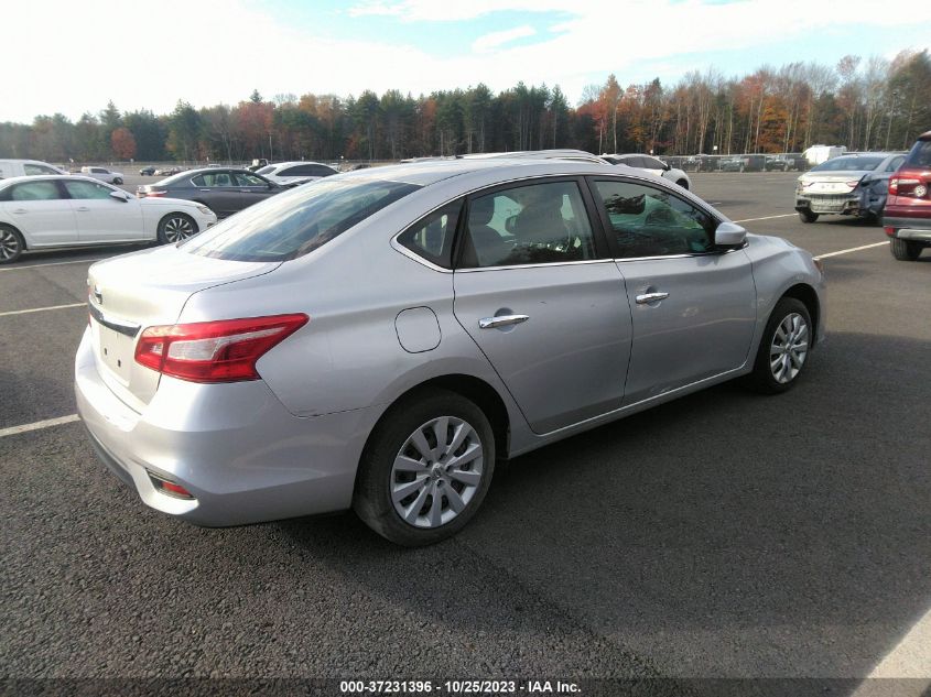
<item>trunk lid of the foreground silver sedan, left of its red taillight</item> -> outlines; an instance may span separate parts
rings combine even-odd
[[[195,293],[261,275],[279,265],[210,259],[173,246],[94,264],[87,274],[87,303],[97,370],[104,382],[128,406],[141,412],[161,378],[134,360],[142,330],[175,324]]]

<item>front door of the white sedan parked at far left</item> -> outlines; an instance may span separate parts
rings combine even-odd
[[[63,179],[71,196],[80,242],[122,242],[144,237],[141,204],[113,198],[111,186],[86,179]]]

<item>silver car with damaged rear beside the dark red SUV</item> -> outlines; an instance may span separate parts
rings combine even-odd
[[[802,222],[825,214],[880,218],[889,177],[905,162],[901,152],[845,153],[812,167],[795,183],[795,210]]]

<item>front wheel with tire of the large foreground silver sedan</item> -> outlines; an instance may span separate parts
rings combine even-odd
[[[794,297],[780,300],[766,323],[747,386],[764,394],[791,389],[808,364],[813,337],[805,304]]]

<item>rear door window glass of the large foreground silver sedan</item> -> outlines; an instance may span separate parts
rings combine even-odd
[[[469,202],[465,268],[595,259],[595,240],[575,182],[508,188]]]

